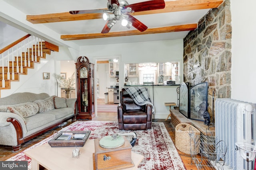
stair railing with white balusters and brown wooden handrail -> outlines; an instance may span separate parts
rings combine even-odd
[[[39,62],[37,58],[43,56],[42,42],[44,40],[39,37],[28,34],[0,50],[0,56],[2,56],[0,59],[0,66],[2,65],[2,88],[5,88],[5,80],[14,80],[15,72],[23,73],[23,67],[30,67],[30,62]],[[22,53],[24,53],[24,62]],[[16,71],[14,72],[15,62]],[[10,66],[10,63],[12,63],[12,66]],[[7,70],[4,69],[5,67],[7,67]],[[10,68],[12,68],[12,76],[10,76]],[[5,74],[7,75],[6,77]]]

